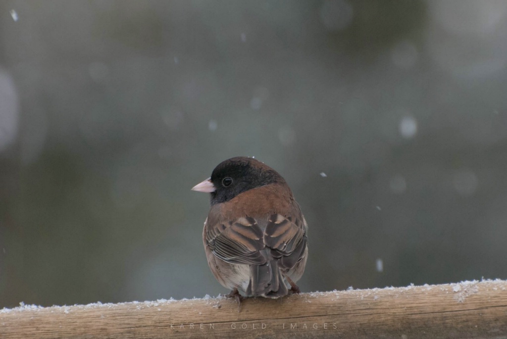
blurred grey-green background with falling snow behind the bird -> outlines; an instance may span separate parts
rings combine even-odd
[[[507,2],[0,2],[0,307],[229,292],[205,194],[255,156],[303,291],[507,278]]]

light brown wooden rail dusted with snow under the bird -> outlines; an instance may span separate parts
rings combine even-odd
[[[0,310],[0,338],[507,338],[507,281]]]

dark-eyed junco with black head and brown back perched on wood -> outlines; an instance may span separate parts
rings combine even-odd
[[[232,289],[230,296],[239,302],[238,290],[267,298],[299,293],[308,225],[280,174],[256,159],[236,157],[192,190],[211,194],[204,250],[215,278]]]

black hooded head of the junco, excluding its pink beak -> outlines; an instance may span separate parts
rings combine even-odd
[[[211,205],[224,203],[238,194],[285,180],[271,167],[253,158],[235,157],[221,162],[211,173],[215,191]]]

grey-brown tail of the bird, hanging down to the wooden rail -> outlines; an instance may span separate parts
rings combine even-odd
[[[247,295],[279,298],[287,293],[287,286],[276,260],[268,261],[264,265],[250,265]]]

